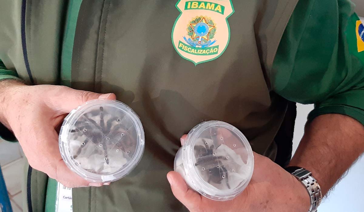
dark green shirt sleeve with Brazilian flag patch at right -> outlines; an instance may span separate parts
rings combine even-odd
[[[364,27],[349,0],[300,0],[270,73],[282,97],[364,124]]]

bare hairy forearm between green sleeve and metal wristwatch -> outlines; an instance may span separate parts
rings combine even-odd
[[[344,115],[321,115],[306,125],[289,165],[311,171],[325,195],[363,152],[361,123]]]

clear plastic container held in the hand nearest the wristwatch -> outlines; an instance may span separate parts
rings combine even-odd
[[[254,156],[246,137],[223,121],[198,124],[174,159],[190,188],[212,200],[231,200],[249,184]]]

